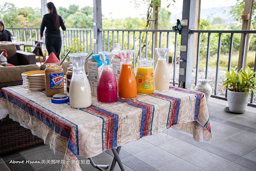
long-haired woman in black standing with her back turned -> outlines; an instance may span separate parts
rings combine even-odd
[[[64,21],[61,16],[58,15],[56,8],[52,2],[47,3],[47,8],[49,14],[45,14],[41,23],[40,34],[41,40],[43,39],[44,28],[45,31],[45,45],[48,51],[48,54],[53,52],[58,59],[60,59],[61,52],[61,32],[60,26],[62,30],[66,30],[64,25]]]

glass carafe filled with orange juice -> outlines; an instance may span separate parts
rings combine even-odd
[[[118,80],[118,95],[120,98],[129,99],[137,96],[137,81],[132,68],[134,50],[121,50],[122,66]]]

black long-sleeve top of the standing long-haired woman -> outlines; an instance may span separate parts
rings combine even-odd
[[[59,16],[60,26],[62,30],[66,30],[66,26],[64,25],[64,21],[61,16]],[[41,23],[40,35],[43,36],[44,28],[46,27],[45,37],[61,37],[60,29],[55,29],[53,24],[53,17],[51,14],[45,14]]]

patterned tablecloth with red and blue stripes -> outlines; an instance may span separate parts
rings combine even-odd
[[[197,141],[212,138],[204,93],[177,87],[113,104],[93,97],[93,104],[81,110],[51,103],[44,91],[6,87],[0,92],[0,110],[9,111],[10,118],[44,139],[54,152],[64,152],[64,159],[93,157],[170,127],[192,133]],[[62,168],[81,170],[75,164]]]

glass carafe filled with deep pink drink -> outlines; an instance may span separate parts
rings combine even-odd
[[[102,72],[97,86],[97,99],[102,103],[113,103],[117,100],[117,84],[113,71],[115,52],[99,52],[102,59]]]

